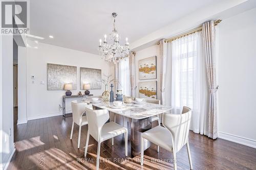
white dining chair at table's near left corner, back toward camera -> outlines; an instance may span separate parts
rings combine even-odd
[[[86,149],[84,151],[84,157],[87,155],[88,143],[90,135],[98,141],[98,150],[97,150],[97,162],[96,169],[99,169],[99,155],[100,155],[100,143],[112,139],[112,145],[114,144],[114,137],[125,134],[125,156],[127,156],[127,142],[128,142],[128,130],[114,122],[106,123],[109,120],[110,115],[109,111],[106,109],[93,110],[92,105],[86,107],[86,114],[88,119],[88,133],[86,139]],[[105,124],[106,123],[106,124]]]

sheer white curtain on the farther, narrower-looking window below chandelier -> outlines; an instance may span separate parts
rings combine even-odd
[[[130,83],[130,65],[129,59],[122,59],[118,63],[118,81],[119,89],[122,90],[124,95],[131,95]]]

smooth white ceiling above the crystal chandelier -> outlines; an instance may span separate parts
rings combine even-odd
[[[30,1],[30,34],[38,40],[73,50],[98,54],[99,39],[112,30],[113,12],[124,43],[144,37],[173,21],[220,0]],[[49,38],[53,35],[54,38]]]

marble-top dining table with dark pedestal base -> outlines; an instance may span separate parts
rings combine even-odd
[[[123,104],[122,108],[113,108],[112,102],[91,103],[91,100],[84,101],[92,104],[96,109],[106,109],[114,114],[118,114],[131,119],[131,155],[135,157],[140,154],[141,134],[152,128],[152,116],[162,114],[172,109],[170,106],[164,106],[153,103],[143,104]],[[151,146],[150,141],[144,140],[144,150]]]

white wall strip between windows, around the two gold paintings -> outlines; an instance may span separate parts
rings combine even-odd
[[[153,45],[151,47],[145,48],[143,50],[137,51],[135,55],[135,83],[136,83],[136,97],[139,97],[139,82],[145,81],[157,81],[157,99],[161,98],[160,92],[160,48],[159,45]],[[139,80],[139,60],[148,57],[157,56],[157,79]]]

